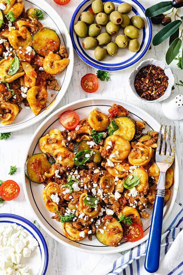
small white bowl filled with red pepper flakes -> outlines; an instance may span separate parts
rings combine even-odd
[[[162,61],[150,58],[142,61],[129,76],[133,93],[146,102],[160,102],[171,95],[174,76]]]

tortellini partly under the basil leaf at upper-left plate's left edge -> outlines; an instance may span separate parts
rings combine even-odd
[[[0,61],[0,81],[6,81],[7,83],[13,82],[15,79],[19,78],[20,76],[24,75],[22,71],[22,66],[20,65],[18,71],[14,75],[9,75],[8,71],[12,64],[13,58],[9,59],[2,59]],[[4,78],[6,76],[6,78]]]

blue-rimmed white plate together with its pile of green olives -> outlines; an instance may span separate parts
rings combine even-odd
[[[137,0],[84,0],[71,18],[70,35],[74,50],[86,64],[119,71],[147,53],[152,25]]]

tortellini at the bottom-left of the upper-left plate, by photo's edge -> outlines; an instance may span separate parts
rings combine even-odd
[[[9,102],[0,102],[0,116],[1,124],[8,125],[13,122],[15,117],[19,113],[19,108],[17,104],[9,103]]]

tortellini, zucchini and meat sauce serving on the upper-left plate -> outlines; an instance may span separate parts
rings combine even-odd
[[[37,116],[47,88],[59,91],[55,75],[69,64],[57,33],[43,27],[41,10],[25,11],[22,0],[0,0],[0,120],[11,124],[22,108]]]

